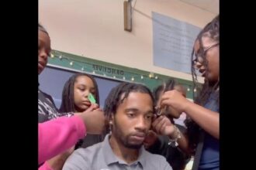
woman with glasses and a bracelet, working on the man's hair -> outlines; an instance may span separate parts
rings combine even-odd
[[[161,107],[169,106],[185,112],[187,132],[182,134],[167,117],[158,117],[152,124],[157,133],[168,135],[182,150],[195,155],[193,170],[219,170],[219,83],[220,83],[220,20],[216,16],[195,39],[192,50],[192,77],[198,86],[196,70],[205,77],[202,89],[194,102],[187,100],[177,90],[166,91],[161,97]],[[198,89],[198,88],[196,88]]]

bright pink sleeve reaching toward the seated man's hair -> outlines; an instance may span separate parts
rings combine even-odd
[[[75,115],[38,124],[38,164],[74,146],[85,132],[84,122]]]

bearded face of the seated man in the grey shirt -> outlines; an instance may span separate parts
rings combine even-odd
[[[123,96],[121,97],[123,99]],[[126,148],[139,149],[150,129],[153,101],[149,94],[131,92],[112,115],[112,136]]]

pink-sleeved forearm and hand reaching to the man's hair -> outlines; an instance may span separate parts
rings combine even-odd
[[[104,128],[105,116],[99,110],[39,123],[38,164],[71,148],[86,134],[102,133]],[[39,169],[54,168],[45,162]]]

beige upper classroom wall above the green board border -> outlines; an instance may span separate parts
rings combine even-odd
[[[39,1],[39,21],[50,33],[52,49],[192,80],[190,74],[153,65],[151,12],[200,28],[216,14],[178,0],[133,0],[133,6],[132,32],[123,30],[121,0]]]

